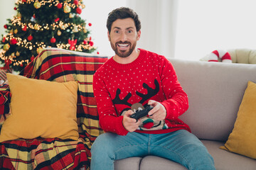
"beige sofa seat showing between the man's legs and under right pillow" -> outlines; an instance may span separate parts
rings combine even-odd
[[[255,170],[256,161],[249,157],[244,157],[240,154],[230,153],[223,149],[219,149],[220,146],[224,145],[224,142],[216,142],[211,140],[201,140],[203,145],[206,146],[208,152],[212,155],[216,169],[222,170]],[[141,160],[141,162],[139,162]],[[144,158],[133,157],[127,159],[121,159],[116,161],[114,166],[115,170],[130,169],[131,167],[137,167],[140,164],[140,170],[155,170],[155,169],[175,169],[185,170],[184,166],[176,162],[171,162],[167,159],[155,156],[146,156]],[[134,168],[137,169],[137,168]]]

